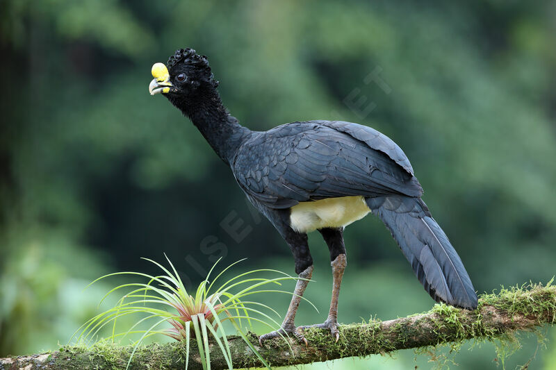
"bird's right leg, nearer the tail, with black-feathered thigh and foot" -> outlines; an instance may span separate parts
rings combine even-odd
[[[341,228],[325,228],[319,230],[328,244],[330,250],[330,262],[332,266],[332,299],[330,301],[330,310],[328,318],[324,323],[315,325],[302,326],[300,328],[322,328],[329,329],[332,336],[336,338],[336,342],[340,339],[338,331],[338,297],[340,296],[340,286],[342,284],[343,273],[347,266],[347,258],[345,256],[345,247],[343,244],[343,235]]]

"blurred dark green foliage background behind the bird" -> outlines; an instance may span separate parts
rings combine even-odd
[[[479,292],[556,273],[556,3],[553,1],[0,1],[0,356],[58,348],[111,282],[172,259],[197,284],[218,257],[293,274],[268,221],[190,122],[147,85],[154,62],[208,56],[231,113],[265,130],[343,119],[389,135]],[[373,78],[374,76],[374,78]],[[234,231],[230,231],[233,229]],[[339,321],[434,303],[379,220],[345,233]],[[297,323],[325,319],[332,274]],[[286,287],[288,289],[288,287]],[[284,296],[270,297],[280,312]],[[547,330],[556,339],[555,330]],[[537,338],[507,369],[527,362]],[[495,369],[491,344],[455,356]],[[314,369],[428,369],[423,355]],[[556,346],[530,369],[556,369]]]

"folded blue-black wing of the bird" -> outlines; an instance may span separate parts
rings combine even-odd
[[[243,144],[232,164],[243,190],[276,209],[338,196],[423,193],[409,161],[388,137],[375,135],[373,141],[376,131],[366,134],[365,126],[323,122],[285,124]]]

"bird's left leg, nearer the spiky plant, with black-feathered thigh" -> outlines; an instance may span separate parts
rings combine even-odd
[[[261,335],[261,337],[259,337],[259,344],[261,345],[266,339],[289,334],[295,335],[297,340],[307,344],[302,331],[296,330],[294,321],[295,314],[297,313],[297,308],[299,308],[305,288],[309,284],[311,276],[313,276],[313,259],[309,253],[306,234],[297,234],[292,231],[286,236],[286,242],[290,245],[295,258],[295,271],[298,274],[298,280],[297,283],[295,283],[295,290],[293,291],[290,306],[288,307],[284,321],[281,324],[281,328],[268,334]]]

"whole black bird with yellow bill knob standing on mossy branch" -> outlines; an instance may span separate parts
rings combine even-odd
[[[346,266],[343,229],[373,212],[384,221],[425,290],[435,301],[477,308],[464,264],[427,205],[404,152],[368,126],[304,121],[251,131],[222,105],[206,56],[179,49],[156,63],[149,92],[163,94],[186,115],[231,168],[253,205],[286,239],[299,275],[280,333],[305,341],[294,319],[313,272],[307,234],[318,230],[330,251],[334,284],[327,328],[338,340],[338,294]]]

